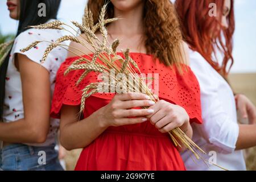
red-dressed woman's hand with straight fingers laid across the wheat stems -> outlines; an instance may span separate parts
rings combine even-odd
[[[142,123],[148,120],[146,116],[154,113],[154,110],[132,108],[152,106],[154,104],[155,102],[151,101],[146,94],[117,94],[108,105],[98,111],[98,117],[106,127]]]

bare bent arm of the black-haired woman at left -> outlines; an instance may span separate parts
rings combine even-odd
[[[0,140],[9,143],[43,143],[49,130],[51,90],[49,73],[27,56],[17,55],[22,81],[24,118],[0,122]]]

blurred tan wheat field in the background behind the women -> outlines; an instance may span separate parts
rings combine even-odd
[[[231,74],[230,84],[235,93],[243,93],[256,105],[256,73]],[[68,151],[65,156],[67,170],[75,168],[81,149]],[[256,171],[256,147],[245,150],[247,170]]]

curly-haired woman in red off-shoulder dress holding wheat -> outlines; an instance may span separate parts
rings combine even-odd
[[[104,2],[88,2],[94,24]],[[180,127],[192,137],[190,123],[201,123],[200,88],[185,56],[173,56],[185,47],[174,6],[169,0],[112,0],[106,16],[120,18],[107,27],[109,42],[120,39],[119,52],[130,48],[141,72],[159,73],[160,101],[154,103],[142,93],[97,93],[85,101],[79,118],[81,90],[96,82],[97,75],[89,73],[78,86],[82,71],[64,77],[67,65],[81,55],[76,49],[88,53],[82,55],[87,59],[92,56],[72,42],[76,49],[70,48],[73,53],[57,73],[51,110],[52,117],[61,119],[61,144],[68,150],[84,148],[76,170],[185,170],[179,154],[183,148],[174,146],[168,131]]]

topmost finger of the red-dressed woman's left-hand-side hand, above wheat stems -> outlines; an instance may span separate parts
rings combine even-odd
[[[131,100],[121,102],[119,107],[121,109],[129,109],[133,107],[148,107],[154,104],[155,102],[150,100]]]

